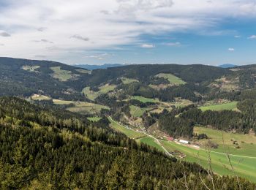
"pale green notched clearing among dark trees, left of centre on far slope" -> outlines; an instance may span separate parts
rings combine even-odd
[[[86,88],[83,88],[82,93],[85,94],[85,96],[88,99],[94,100],[100,94],[108,93],[109,91],[113,91],[113,89],[115,89],[115,88],[116,88],[115,85],[108,85],[108,84],[106,84],[105,86],[100,86],[99,87],[99,91],[95,92],[95,91],[90,91],[90,87],[86,87]]]

